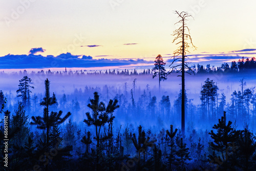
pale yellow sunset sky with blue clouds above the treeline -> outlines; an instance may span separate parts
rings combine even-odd
[[[187,23],[197,47],[188,54],[193,63],[218,65],[241,56],[253,57],[256,53],[255,6],[252,0],[2,0],[0,59],[4,63],[0,63],[0,69],[51,65],[51,60],[44,58],[46,63],[38,66],[38,61],[33,59],[38,55],[54,58],[72,54],[79,59],[90,56],[72,65],[69,59],[61,58],[69,64],[67,67],[76,67],[79,63],[81,67],[81,63],[87,61],[95,67],[118,66],[118,62],[120,66],[136,65],[149,63],[158,54],[169,60],[177,49],[171,35],[179,20],[175,10],[194,16]],[[16,56],[11,59],[8,54]],[[19,67],[20,62],[28,61],[29,65]],[[103,64],[95,65],[100,62]],[[60,63],[59,67],[63,65]]]

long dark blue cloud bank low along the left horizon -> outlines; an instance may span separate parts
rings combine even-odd
[[[41,69],[41,68],[90,68],[127,66],[140,63],[153,63],[143,59],[93,59],[92,56],[72,55],[71,53],[53,55],[12,55],[0,57],[0,69]]]

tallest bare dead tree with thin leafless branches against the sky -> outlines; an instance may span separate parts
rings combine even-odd
[[[170,64],[170,68],[172,69],[171,72],[172,73],[174,71],[174,69],[179,68],[179,72],[181,72],[181,84],[182,84],[182,89],[181,89],[181,93],[182,93],[182,102],[181,102],[181,131],[182,134],[185,134],[185,70],[190,70],[192,72],[194,72],[193,70],[191,70],[188,67],[188,63],[185,61],[185,57],[186,57],[186,53],[189,52],[188,48],[190,47],[189,44],[192,45],[192,47],[194,47],[196,49],[196,47],[193,45],[192,39],[190,37],[190,32],[189,29],[187,27],[186,21],[188,20],[188,17],[192,17],[191,15],[189,15],[187,12],[178,12],[175,11],[176,14],[178,14],[178,17],[181,18],[179,20],[179,22],[177,22],[176,24],[181,24],[181,26],[174,31],[173,36],[175,36],[173,42],[177,41],[176,45],[180,45],[179,48],[174,52],[174,60],[173,62]],[[180,56],[181,55],[181,56]],[[177,61],[181,61],[181,63],[177,63]],[[188,73],[188,72],[187,72]],[[190,74],[190,73],[189,73]]]

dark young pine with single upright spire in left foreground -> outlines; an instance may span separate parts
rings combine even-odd
[[[51,112],[49,115],[49,107],[56,103],[55,96],[50,96],[50,81],[48,78],[45,80],[45,97],[43,101],[40,102],[40,105],[45,106],[44,115],[41,116],[32,116],[32,122],[30,124],[37,125],[37,129],[46,130],[47,131],[47,139],[46,145],[49,147],[49,131],[53,126],[57,126],[63,123],[68,117],[70,117],[71,113],[68,112],[63,118],[61,118],[62,111],[59,112]],[[46,165],[46,170],[48,170],[48,165]]]

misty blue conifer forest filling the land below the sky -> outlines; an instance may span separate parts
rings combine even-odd
[[[177,72],[1,72],[1,170],[253,170],[254,68],[194,67],[185,134]]]

